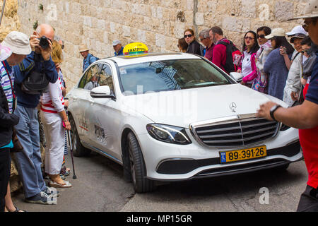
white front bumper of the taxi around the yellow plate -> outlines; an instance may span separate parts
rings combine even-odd
[[[142,134],[139,136],[139,142],[146,163],[147,177],[158,181],[180,181],[251,172],[302,160],[298,132],[295,129],[283,131],[273,140],[263,143],[267,147],[266,157],[227,164],[220,163],[219,150],[204,148],[193,140],[191,145],[172,145]]]

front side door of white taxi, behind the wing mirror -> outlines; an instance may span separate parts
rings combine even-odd
[[[102,63],[100,68],[98,85],[108,85],[111,94],[115,96],[112,67],[110,64]],[[118,161],[121,154],[114,148],[119,132],[117,102],[115,98],[96,98],[91,107],[94,109],[90,118],[90,126],[95,129],[94,147],[104,155]]]

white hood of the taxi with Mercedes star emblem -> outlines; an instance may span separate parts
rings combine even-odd
[[[187,128],[194,122],[254,114],[259,105],[268,101],[287,107],[275,97],[240,84],[130,95],[123,98],[122,107],[158,124]]]

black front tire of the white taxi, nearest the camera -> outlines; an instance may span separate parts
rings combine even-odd
[[[143,160],[140,145],[134,136],[129,132],[127,135],[127,150],[129,153],[129,166],[131,171],[131,181],[134,184],[136,193],[146,193],[155,190],[155,184],[151,179],[147,179],[146,165]]]

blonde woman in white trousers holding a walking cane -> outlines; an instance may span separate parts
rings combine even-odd
[[[52,60],[59,72],[59,64],[63,61],[62,50],[61,45],[55,40],[52,42]],[[41,119],[47,140],[45,147],[45,172],[51,180],[49,186],[69,188],[71,184],[60,177],[64,157],[65,129],[71,129],[64,111],[61,83],[61,78],[58,78],[56,83],[49,83],[47,92],[43,93],[41,97]]]

